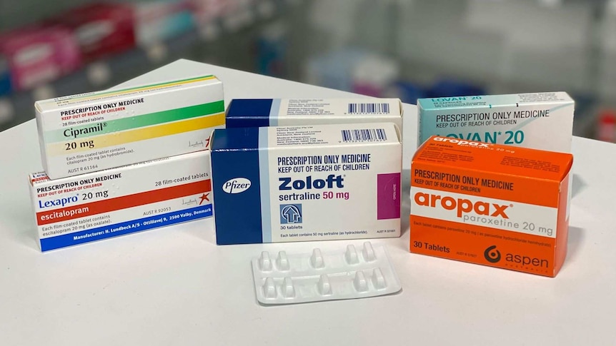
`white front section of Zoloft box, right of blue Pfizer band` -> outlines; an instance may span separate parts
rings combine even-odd
[[[396,145],[269,151],[262,193],[269,195],[271,234],[264,238],[399,236],[400,155]]]

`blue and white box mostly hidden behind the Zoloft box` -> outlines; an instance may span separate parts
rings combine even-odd
[[[382,122],[395,123],[402,131],[399,99],[240,98],[227,108],[227,128]]]

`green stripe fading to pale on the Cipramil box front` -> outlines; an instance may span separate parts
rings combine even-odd
[[[216,101],[197,106],[171,109],[169,111],[148,113],[141,116],[131,116],[130,118],[121,118],[110,121],[99,121],[97,123],[88,123],[81,126],[67,127],[61,130],[47,131],[44,136],[46,143],[64,142],[76,138],[99,136],[105,133],[131,130],[132,128],[142,128],[145,126],[152,126],[160,123],[170,123],[172,121],[197,118],[199,116],[209,116],[222,112],[224,112],[224,101]],[[106,126],[103,126],[101,131],[95,131],[92,133],[80,133],[76,137],[71,136],[68,132],[71,129],[72,131],[79,132],[79,130],[84,128],[96,127],[100,123],[106,123]],[[67,134],[69,134],[69,136],[64,136],[65,131]]]

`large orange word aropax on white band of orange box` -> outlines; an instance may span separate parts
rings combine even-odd
[[[423,205],[425,207],[437,208],[438,205],[446,210],[456,210],[456,215],[458,218],[462,218],[462,215],[472,212],[475,212],[477,215],[509,218],[506,212],[510,205],[487,203],[480,200],[477,202],[472,202],[472,200],[468,200],[466,198],[456,199],[449,196],[442,197],[441,195],[432,195],[422,192],[415,193],[414,200],[417,205]]]

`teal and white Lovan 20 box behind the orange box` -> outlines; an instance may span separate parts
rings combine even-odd
[[[419,98],[419,144],[444,136],[570,153],[574,107],[563,92]]]

